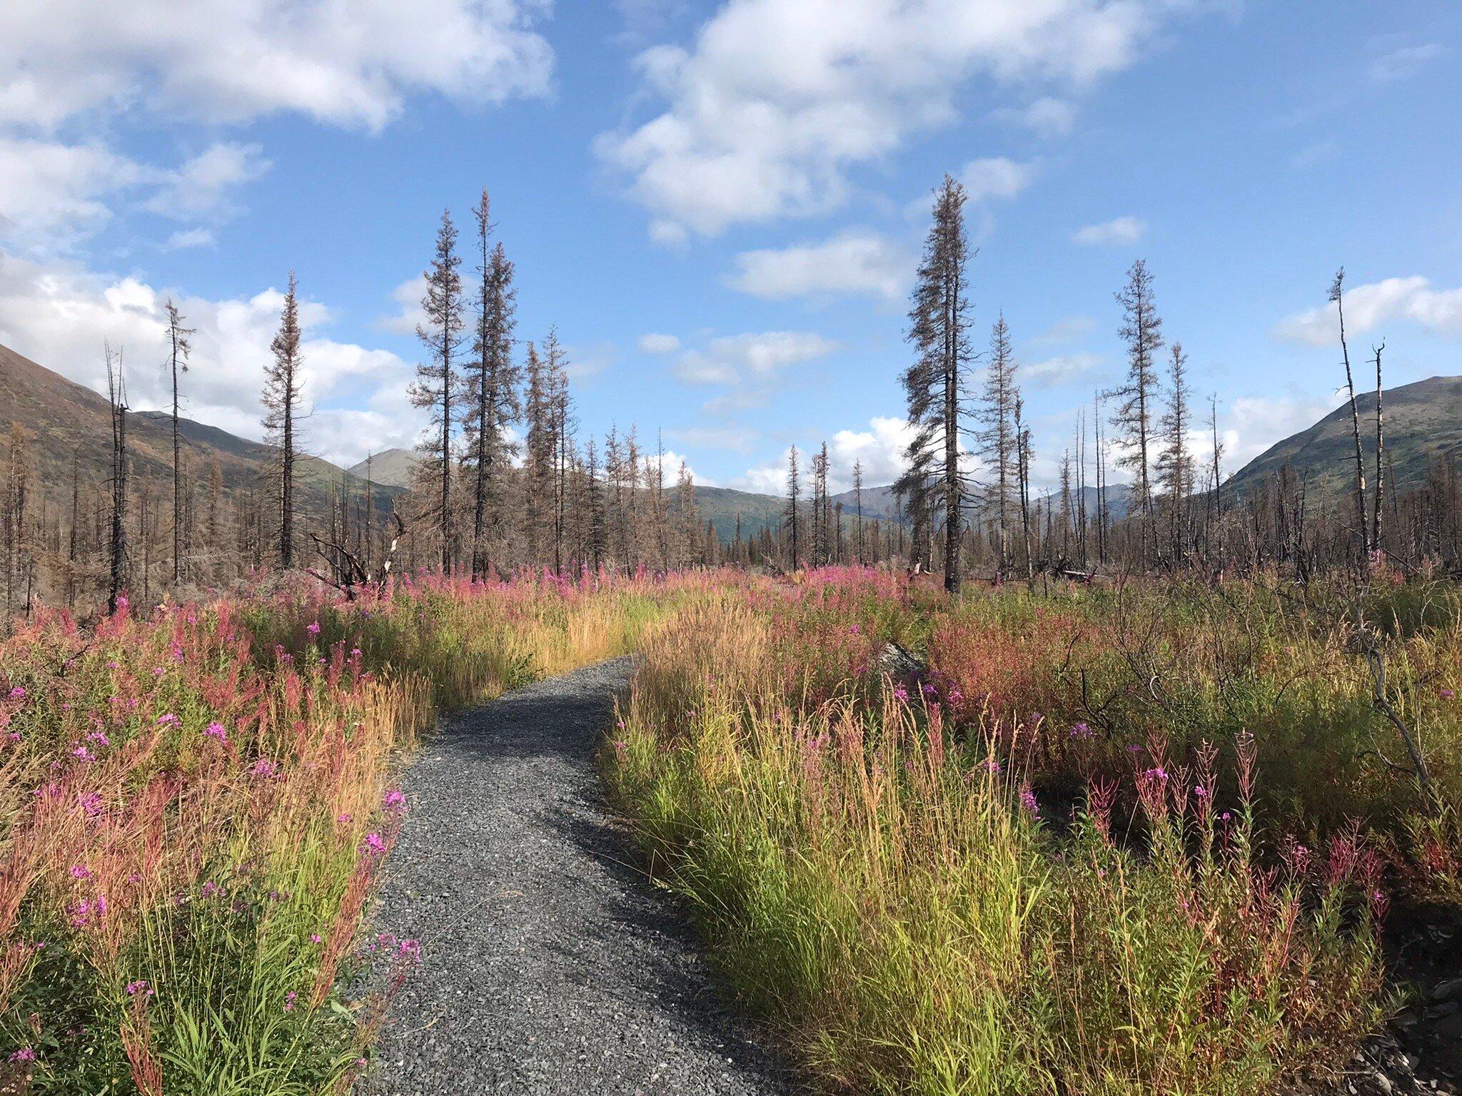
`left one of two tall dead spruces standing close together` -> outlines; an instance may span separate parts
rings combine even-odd
[[[452,213],[442,212],[437,228],[436,253],[427,267],[427,292],[421,298],[425,321],[417,324],[417,338],[427,349],[427,359],[417,365],[417,380],[411,384],[411,402],[425,408],[430,427],[423,440],[425,454],[418,478],[434,500],[427,519],[442,538],[440,566],[452,570],[452,424],[453,406],[461,378],[456,371],[458,351],[462,349],[462,259],[456,253],[456,227]]]

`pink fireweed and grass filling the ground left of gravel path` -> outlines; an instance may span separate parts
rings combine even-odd
[[[339,1093],[417,941],[363,929],[442,704],[629,650],[697,580],[123,604],[0,644],[0,1080]]]

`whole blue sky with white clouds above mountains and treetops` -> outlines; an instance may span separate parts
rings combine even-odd
[[[294,267],[316,452],[409,444],[412,282],[487,186],[519,335],[585,430],[776,488],[789,444],[892,478],[927,194],[971,190],[978,342],[1010,323],[1050,478],[1156,275],[1232,466],[1335,405],[1348,269],[1387,383],[1462,373],[1462,9],[1232,0],[265,0],[0,10],[0,342],[257,435]]]

